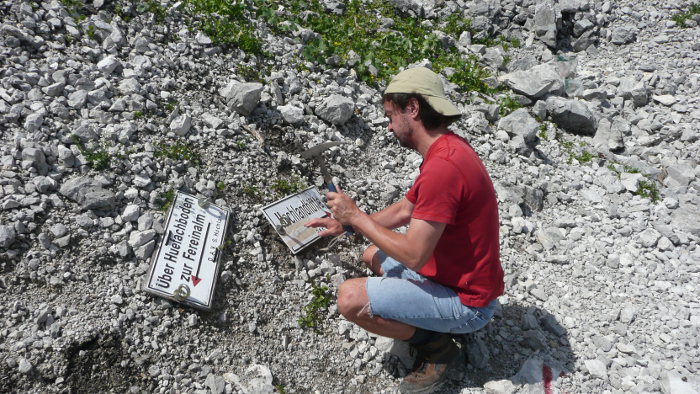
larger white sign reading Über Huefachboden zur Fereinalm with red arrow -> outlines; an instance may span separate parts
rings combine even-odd
[[[195,308],[209,309],[219,273],[228,211],[178,192],[145,290]]]

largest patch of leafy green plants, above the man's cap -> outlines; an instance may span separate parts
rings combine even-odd
[[[360,79],[377,85],[400,68],[427,58],[435,71],[449,69],[447,78],[461,89],[492,91],[483,82],[489,73],[476,57],[464,57],[455,47],[445,46],[433,28],[400,14],[387,1],[349,1],[342,15],[326,12],[318,0],[295,3],[288,9],[293,23],[317,33],[302,50],[306,60],[331,65],[350,61]],[[393,21],[390,27],[383,24],[389,19]],[[452,39],[471,28],[471,22],[461,16],[450,16],[443,23],[445,34]]]

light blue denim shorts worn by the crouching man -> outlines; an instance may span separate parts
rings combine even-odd
[[[462,304],[457,293],[387,256],[376,255],[384,276],[367,278],[369,313],[425,330],[467,334],[484,327],[498,305],[478,308]]]

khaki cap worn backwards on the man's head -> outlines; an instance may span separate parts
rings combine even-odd
[[[442,115],[462,115],[445,95],[440,77],[425,67],[409,68],[396,74],[384,93],[417,93]]]

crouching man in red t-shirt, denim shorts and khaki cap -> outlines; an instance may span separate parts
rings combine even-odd
[[[338,309],[367,331],[409,342],[421,363],[402,392],[432,391],[460,359],[449,334],[482,328],[503,293],[498,207],[474,149],[448,129],[461,116],[440,77],[427,68],[397,74],[383,95],[388,131],[423,157],[420,174],[399,202],[371,215],[342,191],[328,193],[334,219],[306,225],[339,235],[343,225],[373,245],[362,260],[377,277],[338,291]],[[408,224],[406,233],[392,231]]]

